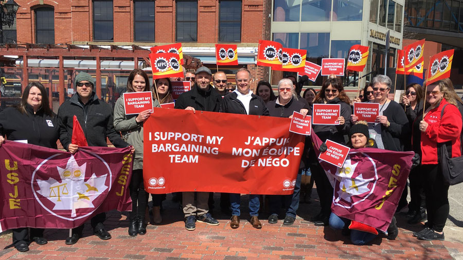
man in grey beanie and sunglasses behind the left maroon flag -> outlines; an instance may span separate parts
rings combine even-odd
[[[71,142],[73,135],[74,115],[82,126],[89,146],[108,146],[106,137],[116,147],[127,147],[113,125],[113,109],[111,105],[98,99],[95,93],[95,80],[85,72],[79,72],[75,78],[76,94],[64,102],[58,109],[58,123],[60,126],[60,141],[63,147],[75,153],[78,145]],[[105,213],[92,217],[91,225],[95,235],[102,240],[110,239],[111,234],[104,229]],[[66,239],[66,245],[77,243],[82,236],[83,225],[73,229],[72,236]]]

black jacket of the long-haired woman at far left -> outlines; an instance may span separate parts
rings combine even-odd
[[[27,114],[22,114],[15,107],[7,107],[0,113],[0,135],[7,140],[25,140],[27,143],[48,148],[57,148],[59,137],[57,117],[50,117],[39,109],[34,114],[30,105],[26,105]]]

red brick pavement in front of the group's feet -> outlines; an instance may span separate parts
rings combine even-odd
[[[244,197],[243,197],[244,198]],[[64,244],[67,230],[46,230],[48,244],[30,245],[30,251],[19,253],[14,248],[0,251],[0,259],[453,259],[463,255],[462,242],[423,242],[412,236],[419,226],[409,226],[404,215],[396,215],[399,236],[387,240],[379,236],[370,245],[354,246],[347,237],[329,227],[316,227],[308,221],[318,213],[318,202],[301,204],[298,217],[292,226],[283,226],[282,220],[271,225],[268,214],[262,213],[263,227],[254,229],[246,220],[247,201],[242,201],[241,226],[232,230],[229,216],[214,210],[219,226],[197,223],[195,231],[184,228],[183,215],[177,204],[164,201],[164,221],[159,226],[149,225],[143,236],[131,237],[127,233],[127,212],[112,211],[105,221],[112,239],[100,240],[91,235],[90,224],[85,225],[84,237],[73,246]],[[216,208],[219,198],[216,195]],[[284,217],[284,216],[283,216]],[[461,237],[461,236],[460,236]],[[453,239],[455,241],[455,239]],[[0,247],[11,243],[11,234],[0,235]],[[452,254],[452,255],[451,255]]]

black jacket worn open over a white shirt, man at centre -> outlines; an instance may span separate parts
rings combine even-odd
[[[231,92],[223,98],[220,104],[220,112],[246,115],[246,108],[243,103],[238,100],[236,92]],[[269,109],[265,106],[265,102],[257,95],[251,95],[249,102],[249,115],[269,116]]]

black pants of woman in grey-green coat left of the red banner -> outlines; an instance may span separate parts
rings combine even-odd
[[[132,198],[132,211],[129,212],[129,218],[145,219],[146,206],[148,203],[148,193],[145,191],[143,184],[143,170],[133,170],[132,178],[129,183],[130,197]]]

